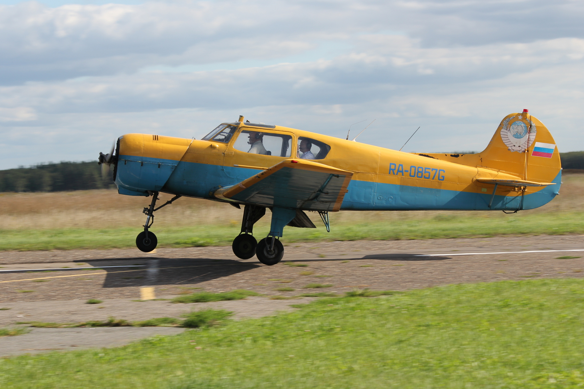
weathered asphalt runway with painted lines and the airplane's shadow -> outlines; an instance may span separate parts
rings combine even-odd
[[[259,317],[290,310],[289,304],[298,303],[270,297],[307,292],[340,295],[364,288],[407,290],[584,276],[582,235],[330,243],[286,243],[283,239],[283,243],[287,244],[283,261],[271,267],[255,257],[239,260],[231,247],[159,248],[149,254],[137,249],[4,252],[0,255],[0,308],[9,309],[0,310],[0,327],[22,321],[79,323],[109,316],[130,321],[179,317],[206,304],[220,304],[237,317]],[[310,284],[323,288],[307,288]],[[254,290],[263,297],[204,304],[137,301],[144,286],[154,287],[160,299],[197,290],[232,289]],[[86,299],[103,303],[89,305]],[[12,339],[26,343],[33,335],[35,346],[23,344],[20,352],[53,348],[43,346],[38,331]],[[6,339],[0,338],[0,348]]]

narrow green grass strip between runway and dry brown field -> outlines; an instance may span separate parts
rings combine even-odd
[[[415,213],[412,213],[415,215]],[[584,213],[519,212],[451,212],[427,219],[393,219],[380,222],[333,223],[327,233],[324,228],[284,228],[287,243],[308,241],[402,240],[488,237],[498,235],[582,234]],[[373,218],[374,219],[374,218]],[[256,235],[267,234],[267,226],[257,226]],[[239,232],[237,226],[199,225],[195,227],[161,227],[152,229],[159,247],[204,247],[230,245]],[[80,248],[134,247],[140,226],[92,229],[0,230],[2,250],[71,250]]]

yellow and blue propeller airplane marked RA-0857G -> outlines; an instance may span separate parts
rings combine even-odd
[[[137,247],[150,252],[154,212],[182,196],[244,206],[232,248],[266,265],[283,257],[284,226],[315,228],[304,211],[482,210],[517,212],[551,201],[561,164],[548,129],[527,110],[507,115],[477,154],[405,153],[277,125],[225,122],[203,139],[126,134],[100,153],[118,192],[151,196]],[[156,208],[159,192],[173,194]],[[272,212],[258,243],[253,225]]]

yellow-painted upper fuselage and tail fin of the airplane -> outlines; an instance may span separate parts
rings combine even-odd
[[[514,118],[515,117],[515,118]],[[513,118],[513,119],[512,119]],[[524,123],[533,122],[536,125],[536,138],[526,153],[511,152],[503,143],[500,131],[505,120],[520,120]],[[242,152],[233,148],[235,140],[241,136],[244,129],[255,130],[248,123],[239,124],[238,131],[232,136],[229,144],[210,141],[199,141],[170,136],[145,134],[124,135],[120,143],[123,155],[147,156],[185,162],[214,164],[218,166],[256,167],[268,169],[287,159],[286,157],[258,155]],[[331,146],[331,150],[324,160],[315,163],[350,171],[353,180],[387,183],[394,185],[408,185],[426,188],[442,188],[451,191],[484,192],[485,186],[489,192],[494,187],[491,183],[479,183],[479,179],[496,180],[523,180],[535,183],[550,183],[559,173],[561,163],[556,149],[552,158],[531,156],[536,142],[555,144],[550,132],[537,118],[529,114],[513,113],[507,115],[496,129],[491,142],[485,150],[477,154],[453,155],[426,153],[405,153],[397,150],[385,149],[379,146],[347,141],[332,136],[315,134],[300,129],[276,126],[274,129],[261,128],[265,133],[286,134],[292,136],[292,150],[289,158],[298,158],[296,145],[298,137],[317,139]],[[246,136],[245,134],[243,136]],[[469,133],[469,136],[472,136]],[[158,140],[154,140],[158,139]],[[453,146],[455,148],[456,146]],[[409,166],[423,166],[430,169],[443,169],[446,178],[443,181],[397,176],[390,174],[390,163]],[[542,187],[527,187],[525,193],[540,191]],[[499,185],[496,194],[516,196],[521,191]]]

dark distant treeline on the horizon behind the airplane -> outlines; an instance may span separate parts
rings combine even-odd
[[[584,169],[584,151],[559,153],[564,169]],[[113,169],[112,169],[113,170]],[[0,192],[58,192],[115,188],[97,162],[60,162],[0,170]]]

